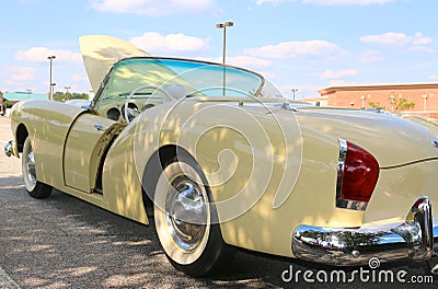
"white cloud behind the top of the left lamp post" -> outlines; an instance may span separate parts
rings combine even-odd
[[[79,63],[82,61],[81,54],[79,53],[73,53],[70,50],[54,50],[45,47],[33,47],[25,51],[18,51],[15,54],[15,59],[32,62],[43,62],[48,61],[47,57],[51,55],[56,56],[54,61],[69,63]]]

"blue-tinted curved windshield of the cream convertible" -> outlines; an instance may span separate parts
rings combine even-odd
[[[126,99],[139,86],[138,94],[152,94],[154,90],[177,91],[186,96],[251,96],[278,97],[272,85],[265,85],[262,76],[234,67],[204,61],[171,58],[129,58],[117,62],[97,92],[96,101]]]

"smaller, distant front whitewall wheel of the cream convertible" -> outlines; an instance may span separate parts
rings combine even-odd
[[[50,196],[53,187],[36,180],[34,150],[32,149],[30,137],[24,141],[21,164],[27,193],[34,198],[47,198]]]

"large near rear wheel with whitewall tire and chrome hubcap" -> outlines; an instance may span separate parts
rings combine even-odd
[[[233,255],[205,184],[196,162],[180,157],[166,164],[154,194],[154,221],[164,253],[175,268],[195,277],[216,273]]]

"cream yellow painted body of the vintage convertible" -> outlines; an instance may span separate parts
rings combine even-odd
[[[93,83],[97,85],[95,79]],[[15,151],[22,150],[27,132],[38,181],[148,224],[142,193],[149,161],[168,146],[180,147],[194,155],[205,173],[218,203],[223,241],[287,257],[296,257],[291,239],[302,224],[402,223],[420,196],[438,208],[438,149],[433,146],[438,128],[433,125],[376,112],[261,104],[244,97],[196,96],[155,108],[128,124],[108,119],[105,105],[91,112],[56,102],[19,103],[11,112]],[[215,109],[237,113],[201,113]],[[239,129],[217,126],[253,129],[238,112],[256,119],[264,134],[247,131],[251,138],[246,139]],[[339,139],[365,148],[379,162],[379,180],[366,210],[336,207]],[[226,158],[230,163],[221,163],[223,151],[233,152]],[[232,177],[223,178],[230,173]],[[234,197],[239,201],[227,201]]]

